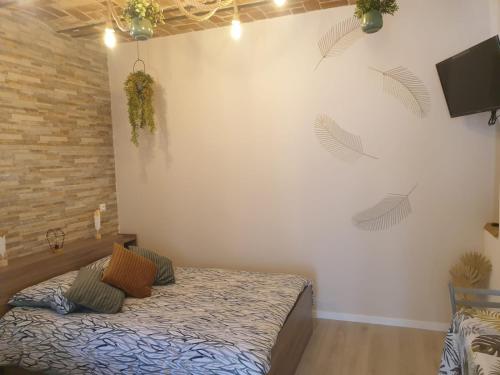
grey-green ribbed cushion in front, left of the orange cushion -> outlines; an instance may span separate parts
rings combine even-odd
[[[101,281],[102,271],[82,268],[64,296],[93,311],[115,314],[122,308],[125,293]]]

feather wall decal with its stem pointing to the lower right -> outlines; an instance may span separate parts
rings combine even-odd
[[[344,161],[355,161],[362,156],[378,159],[365,153],[360,136],[345,131],[327,115],[316,118],[314,131],[321,145]]]

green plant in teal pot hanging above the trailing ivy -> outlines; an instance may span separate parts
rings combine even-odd
[[[151,38],[154,28],[165,23],[160,4],[154,0],[128,0],[123,9],[123,19],[129,26],[130,35],[136,40]]]

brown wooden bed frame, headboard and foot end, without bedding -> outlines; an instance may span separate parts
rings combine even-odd
[[[137,239],[131,234],[106,236],[99,241],[89,239],[69,243],[59,255],[47,251],[12,260],[7,267],[0,268],[0,317],[9,310],[7,302],[14,293],[110,255],[113,243],[127,247],[135,245]],[[293,375],[312,331],[312,287],[308,286],[298,297],[278,335],[268,375]],[[36,374],[21,368],[0,367],[0,375]]]

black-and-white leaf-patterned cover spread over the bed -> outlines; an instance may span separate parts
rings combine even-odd
[[[263,375],[299,276],[176,268],[176,283],[114,315],[15,308],[0,319],[0,366],[51,374]]]

